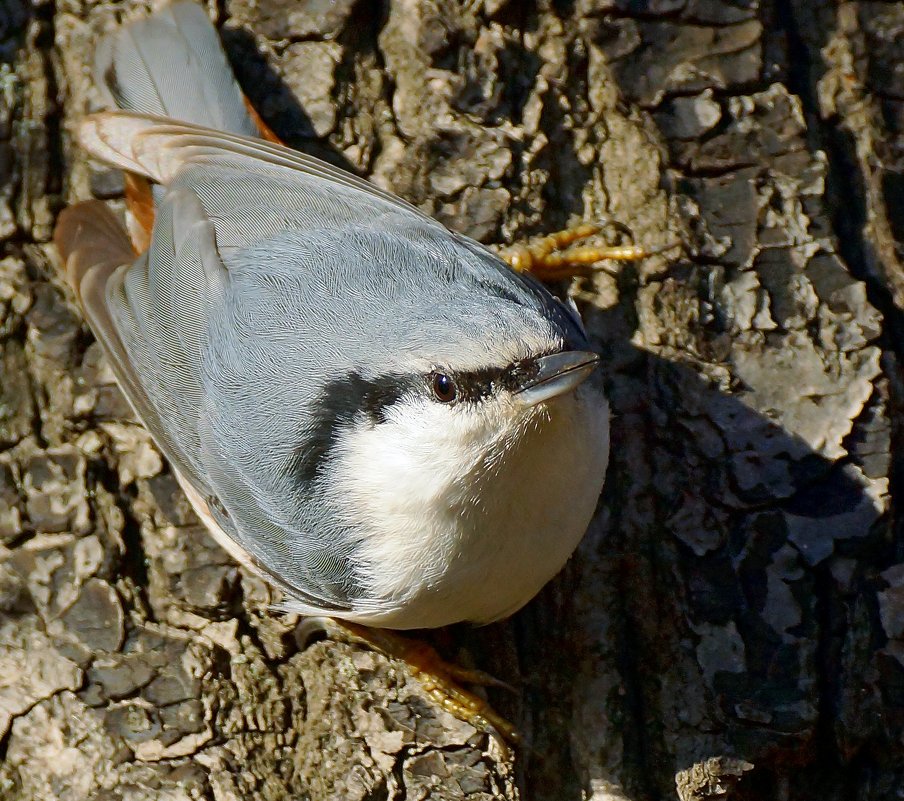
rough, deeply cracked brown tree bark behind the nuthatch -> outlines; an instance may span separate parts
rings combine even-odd
[[[56,211],[122,188],[70,136],[93,43],[146,5],[0,0],[0,797],[900,798],[904,4],[210,9],[279,134],[453,228],[685,243],[573,287],[599,514],[527,609],[442,642],[518,687],[514,759],[402,666],[299,647],[54,274]]]

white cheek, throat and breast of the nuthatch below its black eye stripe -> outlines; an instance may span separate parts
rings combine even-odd
[[[587,529],[608,461],[605,399],[585,384],[528,411],[511,399],[398,406],[337,450],[370,588],[348,617],[404,629],[512,614]]]

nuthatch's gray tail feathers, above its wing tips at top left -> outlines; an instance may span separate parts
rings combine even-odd
[[[259,135],[216,29],[195,3],[173,3],[105,37],[94,69],[121,109]]]

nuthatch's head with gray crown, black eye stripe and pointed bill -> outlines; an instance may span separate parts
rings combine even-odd
[[[364,483],[374,473],[425,499],[467,494],[556,414],[575,425],[578,407],[607,414],[600,381],[588,381],[599,357],[572,307],[469,241],[440,265],[431,280],[414,268],[359,293],[362,342],[350,350],[364,356],[346,356],[313,406],[309,478],[353,463]]]

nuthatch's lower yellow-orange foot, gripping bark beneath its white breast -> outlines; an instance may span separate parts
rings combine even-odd
[[[411,674],[431,698],[450,714],[483,731],[495,731],[513,745],[521,741],[518,730],[497,714],[480,696],[459,686],[459,682],[502,687],[514,692],[511,685],[493,678],[482,670],[470,670],[445,662],[427,643],[403,637],[387,629],[371,629],[334,618],[305,618],[296,637],[305,642],[314,633],[356,642],[408,665]]]

